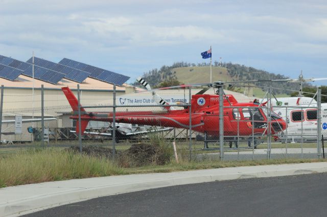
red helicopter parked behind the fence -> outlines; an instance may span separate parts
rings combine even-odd
[[[150,86],[144,79],[138,78],[148,90]],[[73,92],[68,88],[62,88],[69,104],[73,108],[73,116],[69,117],[78,121],[78,100]],[[191,100],[191,127],[192,130],[206,133],[209,136],[217,137],[219,135],[219,95],[202,94],[200,91],[192,95]],[[189,107],[185,104],[183,109],[174,110],[168,103],[152,90],[154,101],[163,105],[162,111],[137,111],[137,112],[116,112],[115,121],[118,123],[144,124],[151,126],[190,128]],[[256,101],[239,103],[232,95],[224,95],[223,123],[224,135],[240,135],[250,137],[254,134],[267,134],[267,107],[265,103]],[[182,103],[180,103],[182,105]],[[226,107],[225,107],[226,106]],[[230,107],[236,106],[236,107]],[[81,133],[89,121],[112,122],[113,114],[86,112],[81,106]],[[270,111],[271,134],[276,134],[286,129],[286,122],[273,111]],[[79,126],[77,122],[77,126]],[[79,128],[76,129],[79,132]]]

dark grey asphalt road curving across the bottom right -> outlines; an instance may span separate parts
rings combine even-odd
[[[326,216],[327,173],[162,187],[25,216]]]

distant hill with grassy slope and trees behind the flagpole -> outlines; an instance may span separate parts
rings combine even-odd
[[[196,84],[210,82],[210,66],[208,64],[191,64],[185,62],[177,62],[172,66],[162,66],[160,69],[152,69],[143,74],[143,78],[151,85],[158,86],[160,83],[166,84]],[[271,79],[287,79],[285,75],[269,73],[264,70],[247,67],[240,64],[222,63],[221,66],[216,64],[212,66],[212,82],[230,82],[230,81],[246,81],[246,80],[271,80]],[[174,82],[169,82],[174,81]],[[135,83],[136,84],[136,83]],[[134,84],[134,85],[135,85]],[[137,84],[136,84],[137,85]],[[290,95],[292,91],[298,90],[297,83],[286,82],[260,82],[255,83],[256,86],[272,87],[273,93],[278,96]],[[311,86],[305,83],[305,86]],[[171,85],[169,85],[171,86]],[[244,90],[239,87],[239,92]],[[256,88],[253,90],[253,95],[262,97],[265,90]]]

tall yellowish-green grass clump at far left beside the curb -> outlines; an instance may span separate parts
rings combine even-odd
[[[53,148],[20,150],[0,160],[0,186],[123,174],[109,159]]]

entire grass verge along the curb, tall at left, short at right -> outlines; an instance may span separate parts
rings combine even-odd
[[[204,158],[190,161],[188,159],[188,150],[179,149],[179,164],[171,160],[167,164],[160,166],[150,164],[147,166],[131,166],[126,168],[121,166],[117,161],[108,158],[69,153],[56,148],[30,148],[0,156],[0,187],[112,175],[320,161],[326,160],[271,159],[220,161],[218,159]]]

